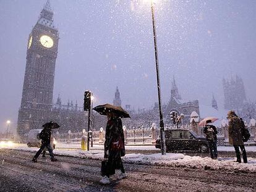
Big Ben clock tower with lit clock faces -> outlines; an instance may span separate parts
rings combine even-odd
[[[19,109],[17,133],[41,128],[51,119],[53,86],[59,32],[53,23],[53,10],[46,1],[40,17],[28,36],[27,63]]]

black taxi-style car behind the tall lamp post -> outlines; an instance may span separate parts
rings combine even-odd
[[[186,129],[169,129],[164,131],[166,151],[200,151],[208,152],[206,138],[199,137],[194,131]],[[160,139],[156,148],[161,149]]]

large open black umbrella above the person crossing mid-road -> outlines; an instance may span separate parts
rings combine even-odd
[[[101,115],[107,115],[107,112],[113,112],[117,117],[130,118],[130,115],[128,114],[128,112],[122,109],[121,106],[104,104],[104,105],[94,107],[93,110],[100,113]]]

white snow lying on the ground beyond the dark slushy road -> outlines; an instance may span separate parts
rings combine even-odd
[[[90,151],[82,151],[79,144],[61,144],[58,143],[58,148],[54,149],[54,154],[60,156],[72,156],[90,159],[103,159],[103,146],[94,145]],[[12,146],[1,146],[1,148],[15,149],[19,151],[38,151],[38,148],[28,148],[25,144],[13,144]],[[155,150],[154,146],[126,146],[126,149],[132,150]],[[247,151],[256,151],[255,146],[246,147]],[[219,151],[234,151],[232,147],[218,147]],[[132,164],[148,164],[148,165],[164,165],[170,167],[187,167],[190,169],[205,169],[205,170],[231,170],[256,172],[256,159],[248,158],[248,164],[239,164],[234,162],[233,157],[219,157],[218,160],[212,160],[210,157],[186,156],[180,153],[168,153],[166,156],[157,154],[126,154],[123,157],[124,162]]]

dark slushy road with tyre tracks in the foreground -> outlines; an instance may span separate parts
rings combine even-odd
[[[0,191],[255,191],[256,173],[125,164],[128,177],[103,186],[100,161],[0,149]]]

